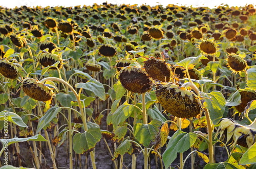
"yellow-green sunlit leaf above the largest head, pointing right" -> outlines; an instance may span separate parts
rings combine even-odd
[[[194,68],[195,65],[197,65],[201,59],[207,58],[202,54],[200,54],[198,57],[188,57],[178,62],[178,66],[182,66],[185,69],[191,69]]]

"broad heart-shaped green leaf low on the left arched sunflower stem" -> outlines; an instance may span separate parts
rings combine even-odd
[[[92,126],[84,133],[77,133],[73,137],[73,150],[77,154],[92,151],[101,139],[100,128]]]

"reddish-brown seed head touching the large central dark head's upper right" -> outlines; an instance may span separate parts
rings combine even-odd
[[[144,62],[144,68],[152,79],[162,82],[170,80],[170,68],[162,59],[150,58]]]

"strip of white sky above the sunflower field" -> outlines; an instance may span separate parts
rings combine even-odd
[[[103,2],[106,2],[106,0],[1,0],[0,6],[2,7],[7,7],[7,8],[14,8],[14,7],[20,7],[23,5],[33,7],[33,6],[41,6],[41,7],[46,7],[46,6],[65,6],[65,7],[71,7],[71,6],[77,6],[77,5],[93,5],[94,3],[97,4],[102,4]],[[222,3],[228,4],[229,6],[245,6],[246,4],[252,4],[256,5],[255,0],[109,0],[108,3],[111,4],[146,4],[146,5],[151,5],[151,6],[156,6],[156,5],[163,5],[164,7],[168,4],[175,4],[175,5],[185,5],[185,6],[191,6],[193,5],[194,7],[201,7],[201,6],[207,6],[210,8],[214,8],[215,6],[219,6]]]

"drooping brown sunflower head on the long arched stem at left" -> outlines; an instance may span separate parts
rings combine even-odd
[[[46,102],[51,100],[52,96],[55,96],[52,86],[32,78],[26,78],[22,81],[22,89],[30,98],[37,101]]]

